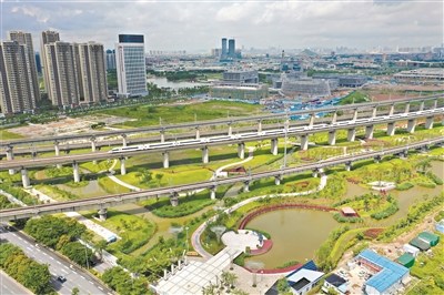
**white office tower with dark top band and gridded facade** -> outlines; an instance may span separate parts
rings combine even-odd
[[[148,94],[143,34],[119,34],[115,44],[119,95],[123,98]]]

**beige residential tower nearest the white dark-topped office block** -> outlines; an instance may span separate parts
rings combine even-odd
[[[95,42],[74,44],[80,103],[107,100],[107,72],[103,45]]]

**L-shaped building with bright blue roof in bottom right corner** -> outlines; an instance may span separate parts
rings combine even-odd
[[[365,282],[366,294],[395,294],[405,282],[410,281],[408,268],[381,256],[371,250],[364,250],[356,256],[356,261],[374,273]]]

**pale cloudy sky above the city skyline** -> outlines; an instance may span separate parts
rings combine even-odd
[[[143,33],[147,50],[236,47],[283,49],[418,47],[443,43],[443,1],[43,1],[0,0],[1,33],[57,30],[63,41],[113,48],[119,33]]]

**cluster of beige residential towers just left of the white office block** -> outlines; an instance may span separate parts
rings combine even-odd
[[[44,85],[53,105],[98,103],[108,96],[103,45],[60,41],[58,32],[42,32]]]

